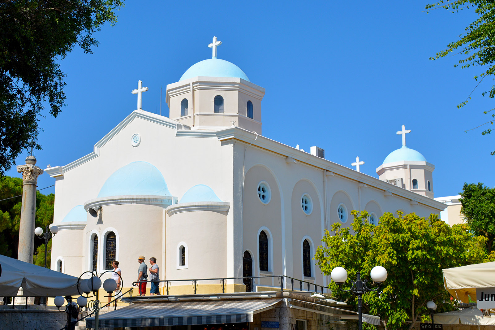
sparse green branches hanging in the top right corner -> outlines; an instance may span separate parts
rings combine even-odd
[[[445,1],[441,0],[437,3],[428,4],[426,6],[427,10],[432,10],[436,8],[445,8],[451,10],[452,13],[459,12],[459,10],[474,8],[474,11],[478,14],[478,18],[470,23],[466,28],[465,34],[459,36],[459,40],[451,42],[447,45],[447,48],[441,52],[438,52],[435,57],[430,59],[435,60],[440,57],[444,57],[452,53],[463,55],[459,59],[458,64],[461,68],[468,68],[470,66],[480,66],[479,70],[481,72],[474,76],[474,79],[478,82],[476,87],[478,87],[481,82],[487,76],[493,76],[495,73],[495,3],[492,0],[453,0]],[[475,87],[475,89],[476,89]],[[457,105],[460,109],[464,107],[471,99],[471,94],[469,94],[466,100]],[[483,96],[489,95],[491,99],[495,97],[495,85],[488,91],[482,93]],[[484,111],[485,114],[491,115],[490,120],[485,124],[494,123],[495,113],[492,112],[495,109]],[[490,113],[491,112],[491,113]],[[480,127],[478,126],[478,127]],[[492,128],[484,130],[481,134],[487,135],[492,133]],[[495,150],[492,151],[492,155],[495,155]]]

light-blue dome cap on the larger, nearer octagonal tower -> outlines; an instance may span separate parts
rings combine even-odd
[[[218,59],[218,58],[209,58],[203,61],[200,61],[184,72],[181,79],[186,80],[194,77],[227,77],[227,78],[242,78],[244,80],[249,81],[246,73],[239,68],[234,63],[229,61]]]

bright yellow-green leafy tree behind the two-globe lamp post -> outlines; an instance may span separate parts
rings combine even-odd
[[[314,258],[325,275],[341,266],[349,278],[360,272],[365,279],[370,278],[373,267],[385,267],[388,277],[379,292],[367,292],[362,298],[363,312],[379,315],[389,330],[412,329],[428,312],[429,300],[434,300],[439,310],[448,310],[451,303],[442,269],[479,263],[485,256],[486,238],[475,237],[466,223],[449,227],[437,215],[428,219],[414,213],[402,217],[398,211],[397,217],[384,214],[375,226],[367,221],[366,211],[352,214],[354,232],[334,223],[335,234],[326,231],[324,244]],[[340,291],[335,282],[329,287],[340,299],[357,304],[357,297]]]

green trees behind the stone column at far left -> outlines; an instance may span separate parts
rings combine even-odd
[[[22,195],[22,179],[17,177],[4,176],[0,178],[0,199]],[[39,191],[36,192],[36,220],[35,225],[45,227],[53,223],[53,206],[55,195],[44,195]],[[22,197],[10,198],[0,202],[0,254],[17,258],[17,249],[19,245],[19,224],[21,220]],[[51,242],[51,240],[50,240]],[[49,242],[49,249],[51,243]],[[45,265],[45,244],[44,240],[35,237],[35,253],[42,251],[42,266]],[[39,250],[40,245],[43,249]],[[49,265],[48,255],[48,265]],[[40,258],[35,255],[35,260]],[[37,265],[38,261],[37,261]]]

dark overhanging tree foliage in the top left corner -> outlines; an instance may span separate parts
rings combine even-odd
[[[0,0],[0,175],[34,146],[48,103],[53,116],[65,102],[59,60],[74,45],[92,53],[92,37],[115,24],[123,0]]]

